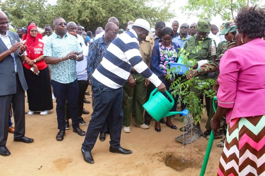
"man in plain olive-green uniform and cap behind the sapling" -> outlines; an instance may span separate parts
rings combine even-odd
[[[195,59],[197,62],[201,62],[202,60],[212,60],[213,56],[211,56],[210,45],[212,39],[207,36],[207,32],[210,32],[210,22],[207,19],[200,19],[196,25],[197,34],[190,37],[186,42],[184,49],[189,52],[188,59]],[[201,41],[201,42],[200,42]],[[196,52],[197,47],[200,46],[200,49]],[[195,52],[194,52],[195,51]],[[199,80],[208,79],[208,74],[199,75]],[[200,92],[197,88],[197,84],[194,84],[191,88],[193,92],[197,95],[198,99],[203,99],[203,93]],[[196,114],[193,114],[194,116]],[[181,131],[189,131],[190,125],[182,127]],[[199,139],[199,136],[202,136],[203,132],[200,129],[200,124],[197,124],[193,128],[193,132],[196,131],[196,134],[193,134],[193,141]],[[192,142],[193,142],[192,141]]]

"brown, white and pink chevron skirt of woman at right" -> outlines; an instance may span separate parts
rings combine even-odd
[[[228,124],[217,175],[265,175],[265,115]]]

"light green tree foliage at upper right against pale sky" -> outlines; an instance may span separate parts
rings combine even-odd
[[[182,11],[200,18],[220,15],[223,20],[234,19],[235,13],[246,5],[259,5],[263,0],[188,0]]]

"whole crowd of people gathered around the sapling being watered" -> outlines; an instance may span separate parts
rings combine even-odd
[[[207,18],[180,26],[173,21],[171,27],[158,21],[154,33],[145,19],[129,21],[123,30],[119,29],[118,19],[110,17],[104,29],[98,27],[93,36],[82,25],[66,23],[62,17],[55,18],[52,25],[45,25],[43,33],[38,32],[34,22],[28,23],[27,30],[18,28],[14,33],[1,11],[0,155],[10,155],[5,146],[8,132],[14,133],[14,141],[34,141],[25,137],[25,91],[28,115],[37,111],[47,115],[56,98],[59,130],[56,140],[64,139],[71,119],[73,132],[85,136],[81,152],[86,162],[94,163],[91,151],[98,136],[104,141],[106,134],[110,134],[110,152],[131,154],[132,151],[120,146],[122,130],[131,132],[131,117],[135,126],[149,128],[152,117],[144,113],[143,104],[155,88],[163,94],[173,91],[168,63],[177,63],[178,53],[184,49],[188,59],[197,61],[187,73],[188,79],[196,76],[200,80],[218,80],[213,87],[218,91],[217,112],[213,111],[214,100],[205,97],[207,130],[203,133],[200,124],[194,126],[199,136],[209,138],[213,130],[216,138],[222,138],[217,144],[224,147],[218,174],[262,174],[264,162],[256,163],[265,150],[264,14],[263,8],[243,8],[235,20],[220,24],[221,30]],[[215,55],[211,54],[212,42],[217,46]],[[181,76],[176,74],[174,78]],[[83,103],[90,103],[85,99],[85,94],[90,95],[89,83],[93,113],[85,132],[79,125],[86,124],[82,114],[90,113],[83,108]],[[203,100],[205,95],[197,86],[194,84],[191,89]],[[171,111],[176,111],[178,96],[174,100]],[[180,104],[183,110],[185,103]],[[15,127],[10,119],[12,113]],[[154,130],[161,132],[161,123],[176,130],[171,122],[174,117],[156,121]],[[180,130],[189,132],[190,124]],[[250,144],[249,140],[253,142]],[[227,155],[230,148],[236,156]],[[251,157],[251,163],[246,164],[249,156],[256,159]],[[231,169],[228,162],[232,160],[236,164]],[[251,169],[246,171],[248,165]]]

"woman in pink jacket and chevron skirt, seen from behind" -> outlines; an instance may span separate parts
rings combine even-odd
[[[211,120],[216,134],[226,114],[228,131],[217,175],[265,173],[265,11],[245,7],[236,17],[237,47],[220,61],[217,112]]]

